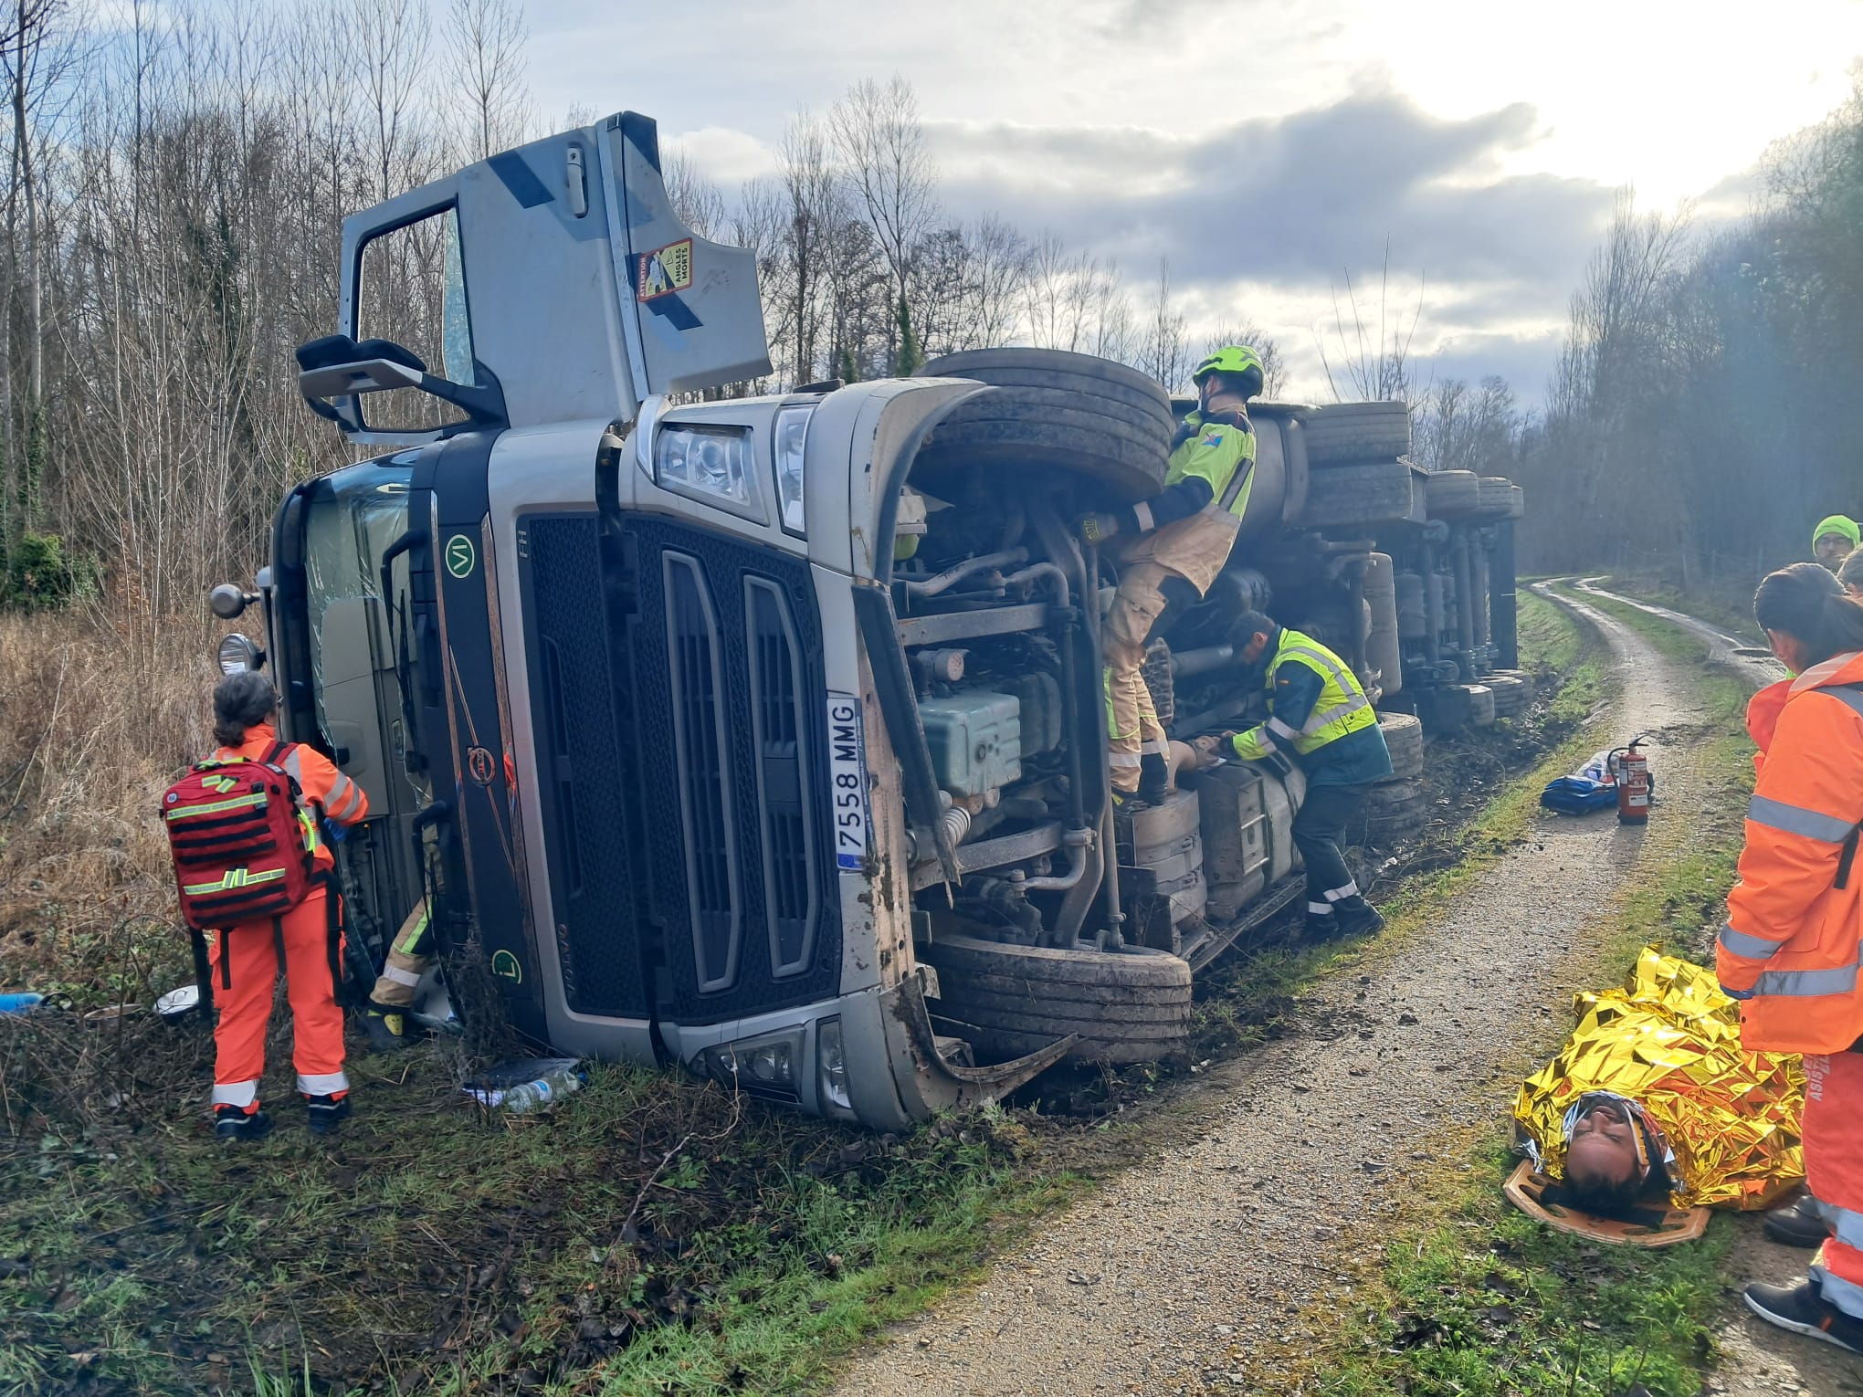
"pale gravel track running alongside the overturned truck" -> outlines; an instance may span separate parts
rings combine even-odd
[[[894,1330],[838,1393],[1289,1390],[1278,1356],[1304,1341],[1302,1324],[1353,1308],[1405,1190],[1507,1110],[1520,1073],[1565,1032],[1571,995],[1613,976],[1597,965],[1595,929],[1625,877],[1688,844],[1686,810],[1708,784],[1690,741],[1705,719],[1693,674],[1595,607],[1572,609],[1617,667],[1598,743],[1654,738],[1669,818],[1638,829],[1543,816],[1446,916],[1328,978],[1289,1038],[1209,1071],[1177,1106],[1190,1121],[1168,1125],[1177,1144]],[[1721,1391],[1863,1391],[1833,1386],[1818,1352],[1794,1367],[1816,1345],[1764,1328],[1731,1326],[1751,1377],[1729,1369]]]

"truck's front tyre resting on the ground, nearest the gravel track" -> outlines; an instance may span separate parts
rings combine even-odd
[[[941,935],[920,946],[937,969],[933,1017],[986,1052],[1021,1056],[1079,1034],[1069,1058],[1153,1062],[1190,1030],[1190,967],[1146,946],[1120,952],[1006,946]]]

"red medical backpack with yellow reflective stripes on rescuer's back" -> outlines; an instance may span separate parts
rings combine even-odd
[[[181,916],[196,931],[281,916],[311,890],[298,782],[278,766],[289,751],[272,743],[259,760],[201,762],[162,795]]]

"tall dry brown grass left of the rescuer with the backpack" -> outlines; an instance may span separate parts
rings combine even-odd
[[[140,661],[101,615],[0,615],[0,987],[147,1004],[186,976],[156,803],[209,738],[211,622]]]

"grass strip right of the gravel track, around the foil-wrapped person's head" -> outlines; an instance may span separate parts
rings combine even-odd
[[[1699,641],[1649,613],[1584,600],[1667,654],[1703,658]],[[1703,674],[1699,693],[1708,710],[1699,734],[1708,790],[1602,928],[1600,982],[1651,941],[1695,959],[1710,954],[1705,928],[1733,883],[1751,749],[1740,728],[1742,685]],[[1319,1391],[1619,1397],[1641,1388],[1692,1397],[1701,1390],[1725,1295],[1727,1218],[1693,1246],[1595,1246],[1541,1229],[1505,1203],[1500,1187],[1515,1160],[1502,1125],[1451,1142],[1444,1160],[1394,1222],[1384,1265],[1358,1296],[1366,1308],[1354,1308],[1338,1341],[1313,1358]]]

